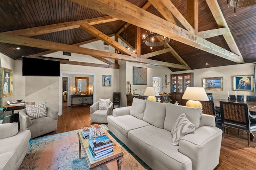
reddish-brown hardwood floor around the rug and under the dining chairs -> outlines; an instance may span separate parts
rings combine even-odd
[[[64,102],[63,114],[58,116],[57,130],[46,135],[73,131],[90,124],[90,105],[67,107]],[[254,135],[256,137],[256,133]],[[225,133],[225,138],[222,138],[220,163],[215,170],[256,169],[256,142],[251,141],[250,145],[250,148],[247,147],[246,132],[241,131],[239,136],[238,130],[229,128],[229,134]]]

